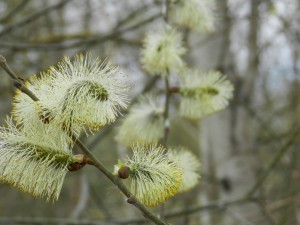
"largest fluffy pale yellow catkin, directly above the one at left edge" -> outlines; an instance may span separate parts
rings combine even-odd
[[[44,114],[49,123],[68,132],[98,130],[114,122],[128,104],[127,77],[109,61],[89,54],[65,57],[40,77],[32,76],[26,86],[40,101],[17,92],[13,116],[23,126]]]

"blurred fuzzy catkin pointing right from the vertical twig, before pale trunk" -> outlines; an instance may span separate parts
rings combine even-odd
[[[233,85],[218,71],[186,68],[180,75],[180,95],[180,115],[201,119],[228,105]]]

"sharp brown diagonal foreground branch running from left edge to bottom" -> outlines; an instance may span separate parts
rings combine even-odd
[[[38,97],[36,97],[23,83],[21,83],[21,80],[18,79],[18,77],[15,75],[15,73],[12,72],[12,70],[9,68],[6,59],[0,55],[0,66],[8,72],[9,76],[14,80],[17,81],[20,84],[19,89],[27,94],[29,97],[32,98],[33,101],[38,101]],[[31,93],[30,95],[28,93]],[[139,200],[131,194],[131,192],[126,188],[126,186],[121,182],[120,178],[117,176],[114,176],[108,169],[104,167],[104,165],[96,158],[96,156],[93,155],[93,153],[79,140],[76,138],[74,134],[72,134],[72,140],[76,143],[76,145],[88,156],[89,158],[89,164],[95,166],[97,169],[99,169],[112,183],[114,183],[121,192],[128,198],[127,202],[129,204],[134,205],[136,208],[138,208],[141,212],[144,213],[144,215],[153,221],[157,225],[167,225],[164,221],[157,218],[152,212],[150,212],[142,203],[139,202]]]

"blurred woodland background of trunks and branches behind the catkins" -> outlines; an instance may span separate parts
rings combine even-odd
[[[200,0],[199,0],[200,1]],[[201,182],[165,204],[172,224],[300,224],[300,1],[220,0],[216,29],[185,30],[192,67],[217,69],[235,87],[230,106],[191,121],[172,98],[170,145],[201,158]],[[0,0],[0,54],[22,78],[64,55],[92,52],[128,74],[131,99],[161,78],[140,65],[141,40],[162,26],[162,1]],[[176,84],[176,78],[172,80]],[[15,90],[0,70],[0,124]],[[126,151],[114,140],[119,120],[83,140],[113,170]],[[111,182],[86,167],[66,177],[56,203],[0,183],[0,224],[151,224]],[[154,208],[154,212],[159,209]]]

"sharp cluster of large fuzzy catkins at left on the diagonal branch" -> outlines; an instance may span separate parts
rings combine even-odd
[[[25,86],[39,100],[16,92],[12,118],[0,128],[0,180],[57,200],[66,173],[80,163],[73,137],[114,122],[127,107],[129,85],[109,61],[77,55],[31,76]]]

